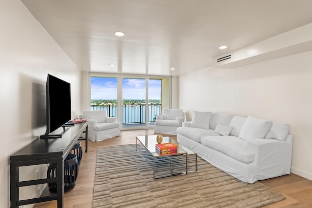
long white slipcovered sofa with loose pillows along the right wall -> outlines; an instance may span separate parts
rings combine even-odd
[[[177,141],[235,178],[254,183],[290,174],[290,125],[252,115],[194,112],[177,128]]]

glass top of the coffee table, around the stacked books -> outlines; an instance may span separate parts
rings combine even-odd
[[[170,138],[169,136],[162,137],[162,143],[173,143],[177,146],[177,152],[173,154],[163,154],[159,155],[156,152],[156,137],[157,135],[146,135],[146,136],[137,136],[137,140],[154,156],[168,156],[168,155],[176,155],[176,154],[196,154],[194,151],[184,147],[183,145],[176,142],[176,140]]]

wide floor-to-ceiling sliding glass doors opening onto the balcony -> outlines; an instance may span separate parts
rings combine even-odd
[[[170,77],[92,74],[91,110],[106,110],[121,129],[154,128],[156,116],[170,108]]]

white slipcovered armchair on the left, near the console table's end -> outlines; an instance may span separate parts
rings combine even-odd
[[[107,117],[105,110],[84,111],[82,118],[88,120],[88,139],[91,141],[99,142],[120,134],[119,123],[116,122],[116,118]]]

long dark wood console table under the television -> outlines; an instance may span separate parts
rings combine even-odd
[[[85,123],[75,124],[71,127],[60,127],[52,134],[62,134],[61,138],[37,139],[15,152],[10,156],[10,206],[11,208],[18,208],[22,205],[34,204],[45,201],[58,201],[58,208],[63,207],[64,196],[64,160],[70,153],[75,143],[79,139],[82,132],[86,133],[83,138],[86,142],[85,151],[88,151],[88,121]],[[39,164],[57,164],[56,177],[44,178],[30,181],[20,181],[20,167],[32,166]],[[33,198],[33,199],[19,199],[19,188],[25,186],[32,186],[46,183],[57,183],[57,193],[49,196]]]

